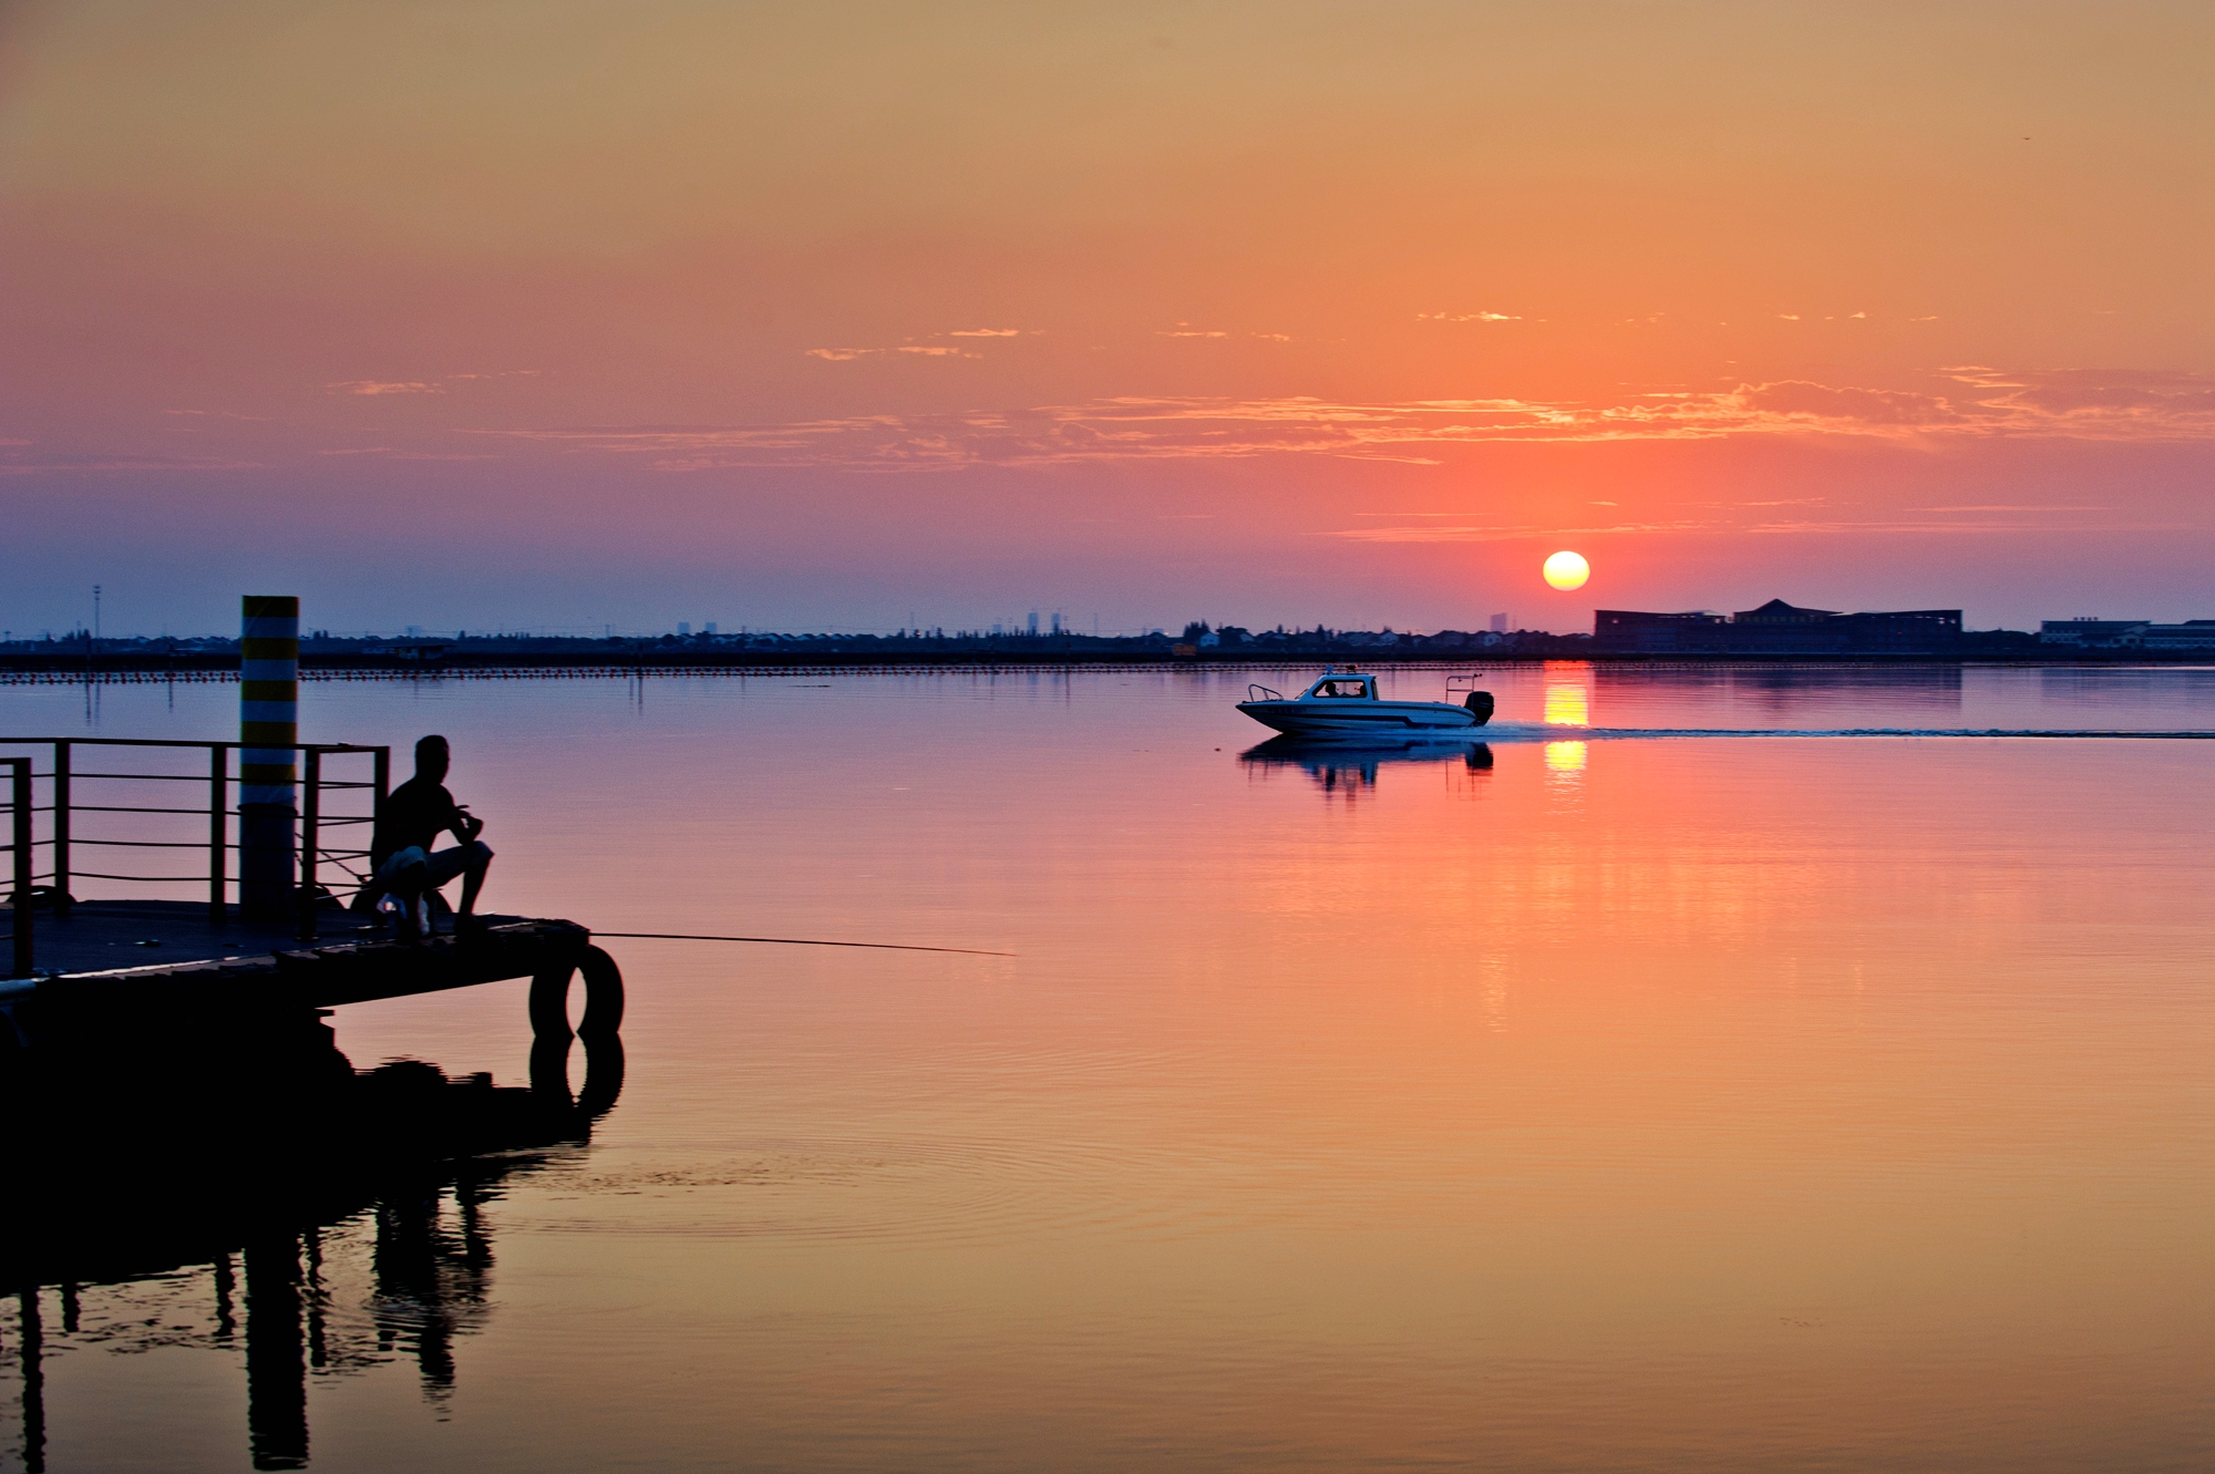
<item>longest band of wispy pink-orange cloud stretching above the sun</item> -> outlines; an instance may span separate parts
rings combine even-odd
[[[893,352],[893,350],[886,350]],[[1943,390],[1943,392],[1936,392]],[[640,454],[664,469],[822,465],[915,469],[1108,460],[1342,456],[1435,465],[1462,445],[1531,440],[1719,440],[1852,436],[1903,445],[1960,438],[2206,440],[2215,381],[2175,372],[1945,370],[1934,390],[1803,378],[1734,390],[1624,392],[1613,401],[1101,398],[935,416],[791,425],[552,427],[472,432]]]

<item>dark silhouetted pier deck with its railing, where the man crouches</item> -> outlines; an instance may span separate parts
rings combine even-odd
[[[365,879],[361,826],[383,808],[390,748],[292,744],[303,768],[299,817],[272,841],[241,828],[239,746],[0,739],[13,872],[0,1053],[177,1027],[184,1016],[312,1018],[348,1003],[509,978],[532,978],[536,1034],[571,1031],[576,976],[587,989],[576,1031],[618,1029],[622,974],[574,921],[487,916],[467,938],[401,943],[379,916],[346,910],[343,899]],[[346,775],[334,777],[339,770]],[[268,854],[272,848],[281,854]],[[237,876],[255,861],[264,870],[277,861],[297,876],[275,910],[241,903]],[[80,903],[71,896],[80,879],[188,887],[204,901]]]

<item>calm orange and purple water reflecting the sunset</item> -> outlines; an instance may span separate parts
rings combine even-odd
[[[1573,733],[2215,728],[2215,671],[1528,668],[1488,766],[1247,757],[1245,682],[308,686],[452,737],[496,910],[1017,954],[609,941],[589,1146],[408,1295],[326,1231],[312,1467],[2215,1461],[2215,744]],[[521,1080],[523,987],[339,1042]],[[215,1270],[42,1304],[49,1467],[248,1467]]]

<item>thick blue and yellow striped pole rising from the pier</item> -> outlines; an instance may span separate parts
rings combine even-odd
[[[239,910],[292,916],[292,819],[299,799],[299,600],[248,593],[239,635]]]

